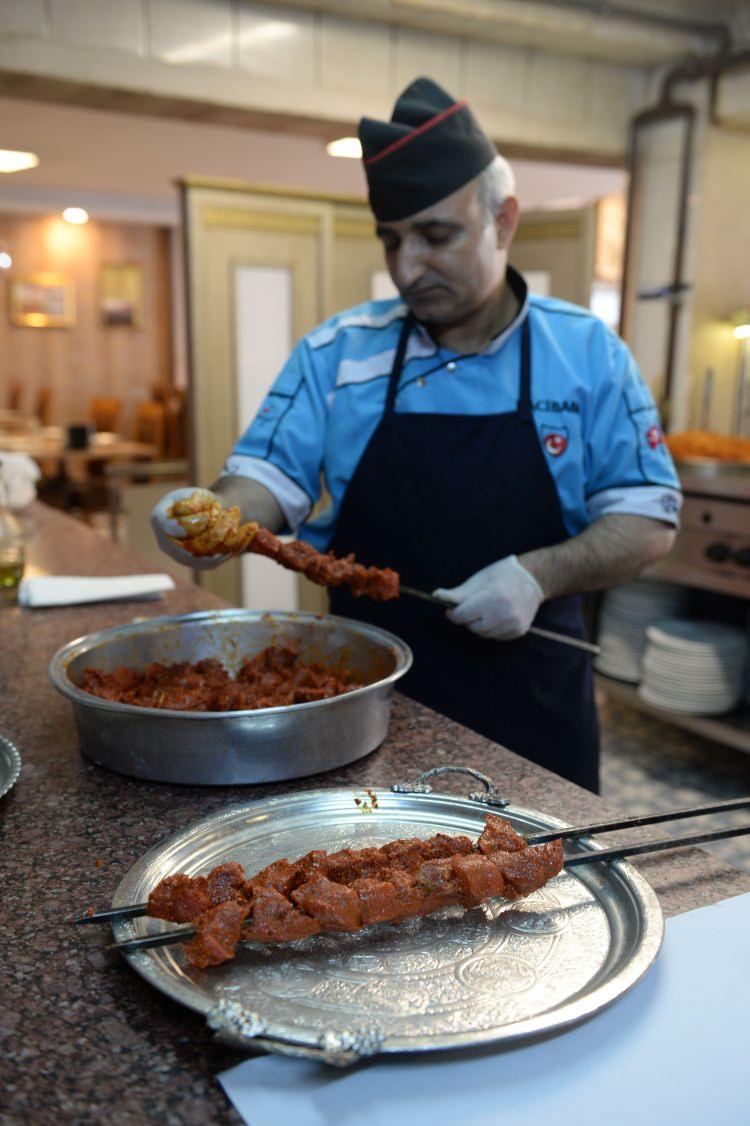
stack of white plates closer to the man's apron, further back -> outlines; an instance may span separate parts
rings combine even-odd
[[[601,653],[593,662],[599,672],[637,683],[645,649],[646,626],[671,618],[682,609],[685,589],[670,582],[636,579],[607,591],[601,601]]]

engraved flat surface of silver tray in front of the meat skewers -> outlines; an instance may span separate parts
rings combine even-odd
[[[606,920],[571,879],[523,906],[493,902],[321,936],[294,951],[245,950],[243,983],[220,980],[214,991],[285,1025],[346,1027],[366,1012],[386,1036],[434,1036],[553,1008],[586,986],[608,946]]]

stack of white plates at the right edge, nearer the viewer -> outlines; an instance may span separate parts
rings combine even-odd
[[[720,715],[742,697],[745,638],[721,622],[672,618],[646,629],[639,696],[649,704]]]

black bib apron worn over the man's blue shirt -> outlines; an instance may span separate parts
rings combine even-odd
[[[529,315],[520,329],[518,406],[503,414],[399,414],[413,319],[396,349],[383,417],[343,495],[330,549],[394,568],[404,584],[455,587],[506,555],[568,539],[532,418]],[[461,378],[459,370],[452,378]],[[414,663],[399,689],[571,781],[598,792],[599,731],[590,658],[527,634],[492,641],[439,606],[331,591],[334,614],[392,631]],[[544,602],[534,619],[583,637],[580,598]]]

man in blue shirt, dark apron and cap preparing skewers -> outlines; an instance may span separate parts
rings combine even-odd
[[[243,518],[392,566],[456,604],[331,592],[333,613],[413,649],[403,690],[590,789],[598,727],[579,592],[669,551],[680,494],[635,364],[586,310],[508,267],[512,173],[429,79],[359,128],[401,300],[305,337],[213,491]],[[331,503],[314,519],[321,473]],[[170,493],[154,510],[164,549]],[[215,562],[215,561],[214,561]]]

